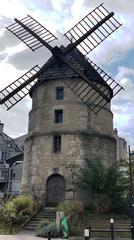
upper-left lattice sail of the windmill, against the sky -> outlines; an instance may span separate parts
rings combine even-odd
[[[32,51],[42,46],[46,46],[51,50],[49,43],[57,38],[48,29],[30,15],[21,20],[15,19],[15,21],[16,23],[7,27],[7,29],[23,41]]]

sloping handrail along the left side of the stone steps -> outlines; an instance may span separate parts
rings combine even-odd
[[[40,204],[39,204],[39,200],[41,200]],[[42,194],[40,199],[37,199],[35,201],[35,204],[37,203],[37,207],[34,209],[33,213],[31,215],[29,215],[29,217],[26,219],[26,221],[21,225],[22,228],[45,206],[45,202],[46,202],[45,194]],[[30,206],[25,208],[22,213],[24,214],[25,212],[27,212],[29,207]],[[32,207],[32,205],[31,205],[31,207]]]

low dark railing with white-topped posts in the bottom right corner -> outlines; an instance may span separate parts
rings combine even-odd
[[[92,233],[110,233],[110,238],[111,240],[115,240],[115,233],[130,233],[131,240],[134,240],[134,225],[130,225],[130,228],[126,229],[115,229],[114,227],[114,220],[110,219],[110,228],[105,228],[105,229],[95,229],[92,228],[92,226],[88,226],[84,230],[84,237],[85,240],[92,239]]]

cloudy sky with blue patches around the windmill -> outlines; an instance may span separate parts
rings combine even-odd
[[[22,19],[29,14],[58,36],[60,43],[65,43],[62,34],[100,3],[100,0],[0,0],[0,90],[34,65],[42,66],[50,56],[45,47],[32,52],[5,29],[14,23],[14,18]],[[103,3],[123,25],[89,57],[124,88],[112,100],[114,127],[134,148],[134,1],[104,0]],[[9,111],[0,105],[4,132],[11,137],[27,133],[30,109],[29,96]]]

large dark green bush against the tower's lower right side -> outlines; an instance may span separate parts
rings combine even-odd
[[[96,214],[123,210],[125,181],[116,163],[105,167],[101,160],[87,162],[87,168],[80,169],[79,184],[92,193],[92,209]]]

